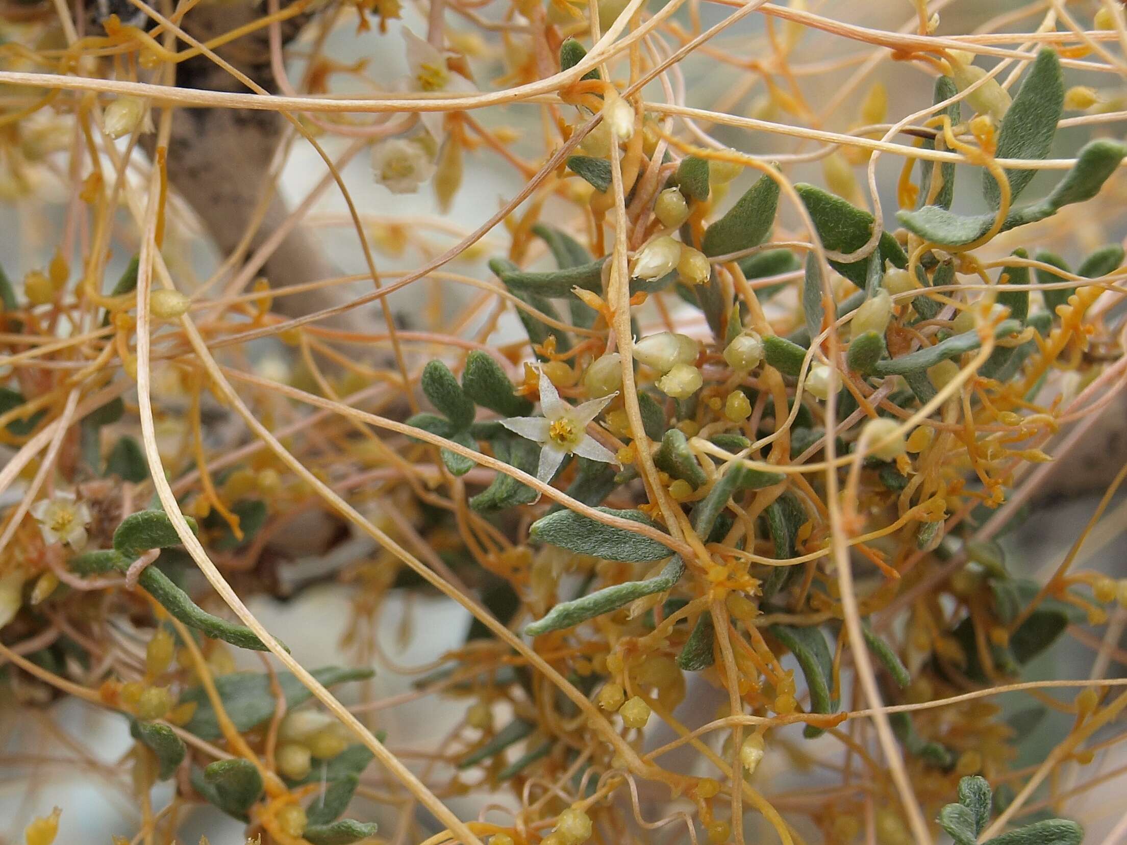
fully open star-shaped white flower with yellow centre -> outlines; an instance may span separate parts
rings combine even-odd
[[[614,453],[587,434],[587,424],[606,407],[618,392],[601,399],[592,399],[583,404],[571,406],[560,399],[544,372],[540,371],[540,407],[543,417],[509,417],[500,424],[525,439],[542,444],[536,478],[545,484],[552,480],[556,470],[569,454],[592,461],[618,464]]]

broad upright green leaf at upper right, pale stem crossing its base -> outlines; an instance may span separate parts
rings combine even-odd
[[[1000,159],[1047,159],[1053,151],[1053,136],[1063,112],[1061,60],[1054,51],[1041,50],[1002,118],[994,155]],[[1036,175],[1036,170],[1005,171],[1010,180],[1010,202],[1018,198]],[[983,172],[983,196],[993,208],[1001,204],[997,181],[990,171]]]

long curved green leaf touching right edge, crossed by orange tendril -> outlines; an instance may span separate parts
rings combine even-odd
[[[1053,193],[1038,203],[1011,208],[1000,231],[1006,232],[1015,226],[1036,223],[1066,205],[1091,199],[1100,193],[1103,183],[1116,171],[1124,155],[1127,155],[1127,145],[1117,141],[1100,139],[1089,142]],[[935,243],[955,247],[982,238],[994,224],[994,214],[960,216],[934,205],[896,213],[896,219],[908,231]]]

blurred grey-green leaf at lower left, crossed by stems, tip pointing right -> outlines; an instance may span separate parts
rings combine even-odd
[[[323,666],[310,673],[325,686],[335,686],[347,681],[364,681],[375,673],[369,667]],[[309,701],[312,693],[307,690],[293,673],[277,673],[278,685],[285,697],[286,711]],[[242,733],[268,721],[274,715],[274,696],[270,694],[270,679],[266,674],[237,671],[215,678],[223,709],[231,718],[236,729]],[[194,701],[196,711],[184,726],[185,730],[195,733],[201,739],[219,739],[223,736],[219,729],[215,711],[202,686],[193,686],[180,694],[180,703]]]

